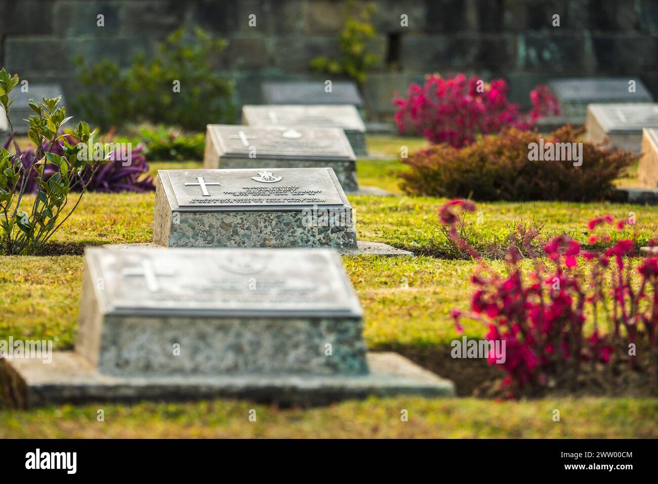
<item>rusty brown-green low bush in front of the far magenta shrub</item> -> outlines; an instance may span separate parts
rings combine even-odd
[[[636,161],[630,151],[582,142],[580,166],[531,156],[533,144],[578,143],[583,132],[563,126],[544,136],[510,128],[465,148],[441,144],[423,149],[401,160],[411,167],[399,174],[401,188],[413,195],[474,200],[605,200],[613,193],[613,181]]]

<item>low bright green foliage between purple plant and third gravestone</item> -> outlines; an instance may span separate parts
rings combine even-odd
[[[143,127],[139,136],[130,139],[137,146],[143,144],[149,161],[203,160],[205,134],[186,133],[167,126]]]

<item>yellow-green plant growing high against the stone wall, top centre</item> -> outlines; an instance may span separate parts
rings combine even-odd
[[[377,34],[370,23],[375,7],[368,3],[357,11],[356,4],[349,2],[348,9],[345,25],[338,36],[340,59],[320,56],[312,59],[309,65],[318,72],[347,76],[363,86],[367,70],[378,63],[378,57],[368,52],[367,46],[368,40]]]

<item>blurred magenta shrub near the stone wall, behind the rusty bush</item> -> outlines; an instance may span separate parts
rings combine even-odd
[[[474,142],[478,134],[510,126],[527,130],[538,118],[560,113],[557,98],[546,86],[530,93],[533,108],[529,113],[521,113],[519,105],[507,101],[508,89],[503,79],[484,83],[464,74],[445,79],[438,74],[427,76],[424,86],[409,86],[406,99],[393,99],[395,123],[403,134],[461,148]]]

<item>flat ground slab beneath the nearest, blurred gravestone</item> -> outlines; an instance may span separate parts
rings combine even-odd
[[[454,396],[455,385],[395,353],[368,353],[370,373],[359,376],[216,375],[114,377],[75,352],[54,352],[49,364],[0,359],[4,400],[21,408],[48,404],[141,400],[245,398],[257,402],[327,404],[368,395]]]

